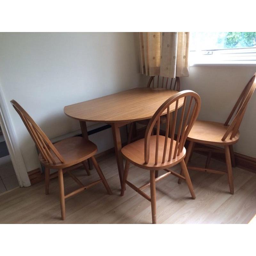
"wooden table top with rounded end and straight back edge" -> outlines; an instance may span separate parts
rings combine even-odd
[[[64,107],[67,116],[90,122],[134,122],[151,118],[156,110],[177,91],[163,88],[133,88],[108,96]],[[179,108],[183,105],[179,100]],[[175,103],[170,105],[170,112]],[[162,115],[166,114],[166,111]]]

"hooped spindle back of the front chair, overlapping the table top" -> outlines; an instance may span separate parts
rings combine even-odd
[[[178,108],[179,102],[183,102],[182,107]],[[170,129],[170,137],[169,138],[169,125],[170,125],[170,105],[172,105],[172,109],[175,106],[175,110],[173,112],[173,120],[172,120],[172,127]],[[201,99],[196,92],[186,90],[182,92],[178,92],[173,95],[171,98],[166,100],[157,110],[154,116],[150,119],[146,133],[145,133],[145,163],[148,164],[149,161],[149,152],[150,152],[150,137],[154,126],[156,125],[156,155],[155,155],[155,164],[161,161],[164,163],[168,158],[168,161],[171,161],[171,158],[175,159],[176,156],[179,156],[183,150],[185,141],[188,137],[188,133],[190,132],[196,118],[199,114],[199,110],[201,107]],[[165,139],[164,139],[164,150],[163,156],[160,156],[158,159],[158,146],[159,146],[159,131],[160,131],[160,116],[165,113],[167,110],[167,120],[166,120],[166,127],[165,127]],[[179,120],[177,120],[179,112]],[[177,123],[177,124],[176,124]],[[175,130],[177,131],[177,138],[176,141],[174,140],[174,133]],[[170,141],[170,148],[169,152],[167,151],[167,144]]]

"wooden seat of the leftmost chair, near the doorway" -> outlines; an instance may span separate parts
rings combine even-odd
[[[97,146],[90,140],[83,137],[72,137],[61,140],[54,144],[54,147],[59,151],[60,155],[65,159],[65,163],[61,163],[55,154],[50,150],[56,164],[47,163],[44,161],[41,154],[39,160],[51,169],[62,169],[74,164],[83,162],[84,160],[94,156],[97,153]]]

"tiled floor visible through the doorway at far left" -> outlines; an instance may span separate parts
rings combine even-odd
[[[0,193],[19,187],[10,156],[0,158]]]

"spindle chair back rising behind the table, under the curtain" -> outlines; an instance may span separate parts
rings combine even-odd
[[[155,81],[156,80],[156,81]],[[165,88],[180,91],[180,77],[150,76],[147,87]]]

